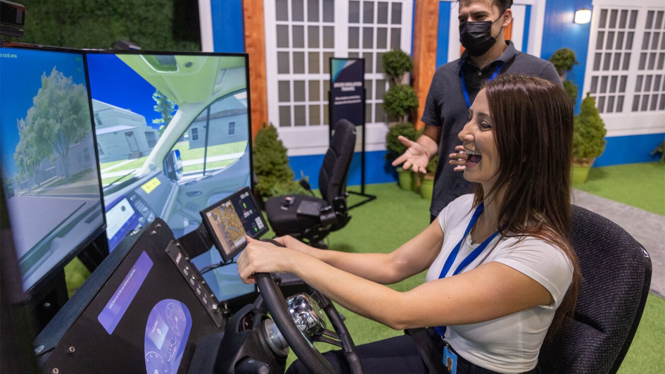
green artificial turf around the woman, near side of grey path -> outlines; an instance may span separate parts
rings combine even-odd
[[[592,169],[593,171],[593,169]],[[348,187],[359,191],[358,187]],[[366,193],[377,199],[350,211],[351,221],[329,235],[330,250],[344,252],[390,252],[424,230],[430,220],[430,201],[421,199],[411,191],[399,189],[396,183],[367,185]],[[350,195],[348,205],[361,197]],[[265,237],[271,233],[267,234]],[[425,272],[390,285],[395,290],[410,290],[425,281]],[[346,317],[346,327],[356,345],[402,335],[402,331],[360,317],[340,306],[337,310]],[[330,326],[330,325],[329,325]],[[326,343],[315,344],[320,351],[338,349]],[[618,371],[629,373],[661,373],[665,367],[665,300],[650,294],[644,315],[632,345]],[[295,360],[289,353],[287,365]]]

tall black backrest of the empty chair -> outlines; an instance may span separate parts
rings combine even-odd
[[[334,127],[331,145],[323,157],[319,171],[321,197],[332,205],[335,197],[344,196],[346,176],[356,147],[356,126],[347,120],[339,120]]]

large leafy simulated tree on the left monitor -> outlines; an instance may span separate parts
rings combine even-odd
[[[27,117],[19,120],[21,140],[14,157],[19,168],[25,165],[23,171],[29,176],[34,176],[37,171],[35,163],[41,163],[45,157],[58,157],[63,164],[65,179],[69,179],[69,147],[92,131],[88,93],[82,84],[75,84],[55,66],[49,76],[42,74],[41,83]],[[23,157],[23,165],[17,157]],[[36,167],[38,169],[39,164]]]

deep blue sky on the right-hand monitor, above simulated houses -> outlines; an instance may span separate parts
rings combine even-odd
[[[152,128],[161,126],[152,123],[153,119],[162,118],[162,115],[153,108],[155,88],[148,81],[114,54],[90,53],[87,58],[90,94],[94,100],[138,113],[146,118]]]

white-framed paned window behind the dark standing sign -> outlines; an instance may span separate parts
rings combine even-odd
[[[384,149],[381,59],[394,48],[411,50],[413,2],[265,0],[264,9],[268,116],[289,154],[327,149],[331,57],[364,58],[366,149]]]

